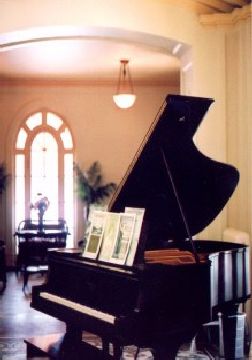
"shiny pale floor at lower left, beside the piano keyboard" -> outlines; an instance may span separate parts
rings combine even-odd
[[[30,285],[41,284],[44,279],[37,274]],[[7,273],[7,286],[0,297],[0,359],[25,360],[24,339],[31,334],[61,333],[65,325],[56,319],[39,313],[30,307],[31,286],[28,294],[22,291],[22,278]]]

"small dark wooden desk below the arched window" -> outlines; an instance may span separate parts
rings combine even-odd
[[[47,272],[48,249],[64,248],[67,235],[68,228],[63,219],[44,221],[42,229],[37,221],[21,221],[14,236],[18,245],[17,272],[22,272],[24,276],[23,290],[30,273]]]

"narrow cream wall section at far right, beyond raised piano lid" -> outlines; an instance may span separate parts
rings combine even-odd
[[[251,21],[236,23],[226,35],[228,160],[240,171],[240,186],[229,221],[252,234],[252,29]]]

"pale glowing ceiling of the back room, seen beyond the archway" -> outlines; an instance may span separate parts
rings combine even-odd
[[[102,56],[106,54],[106,56]],[[129,60],[132,77],[176,81],[179,60],[152,47],[99,39],[47,40],[0,51],[0,78],[111,81],[119,60]]]

